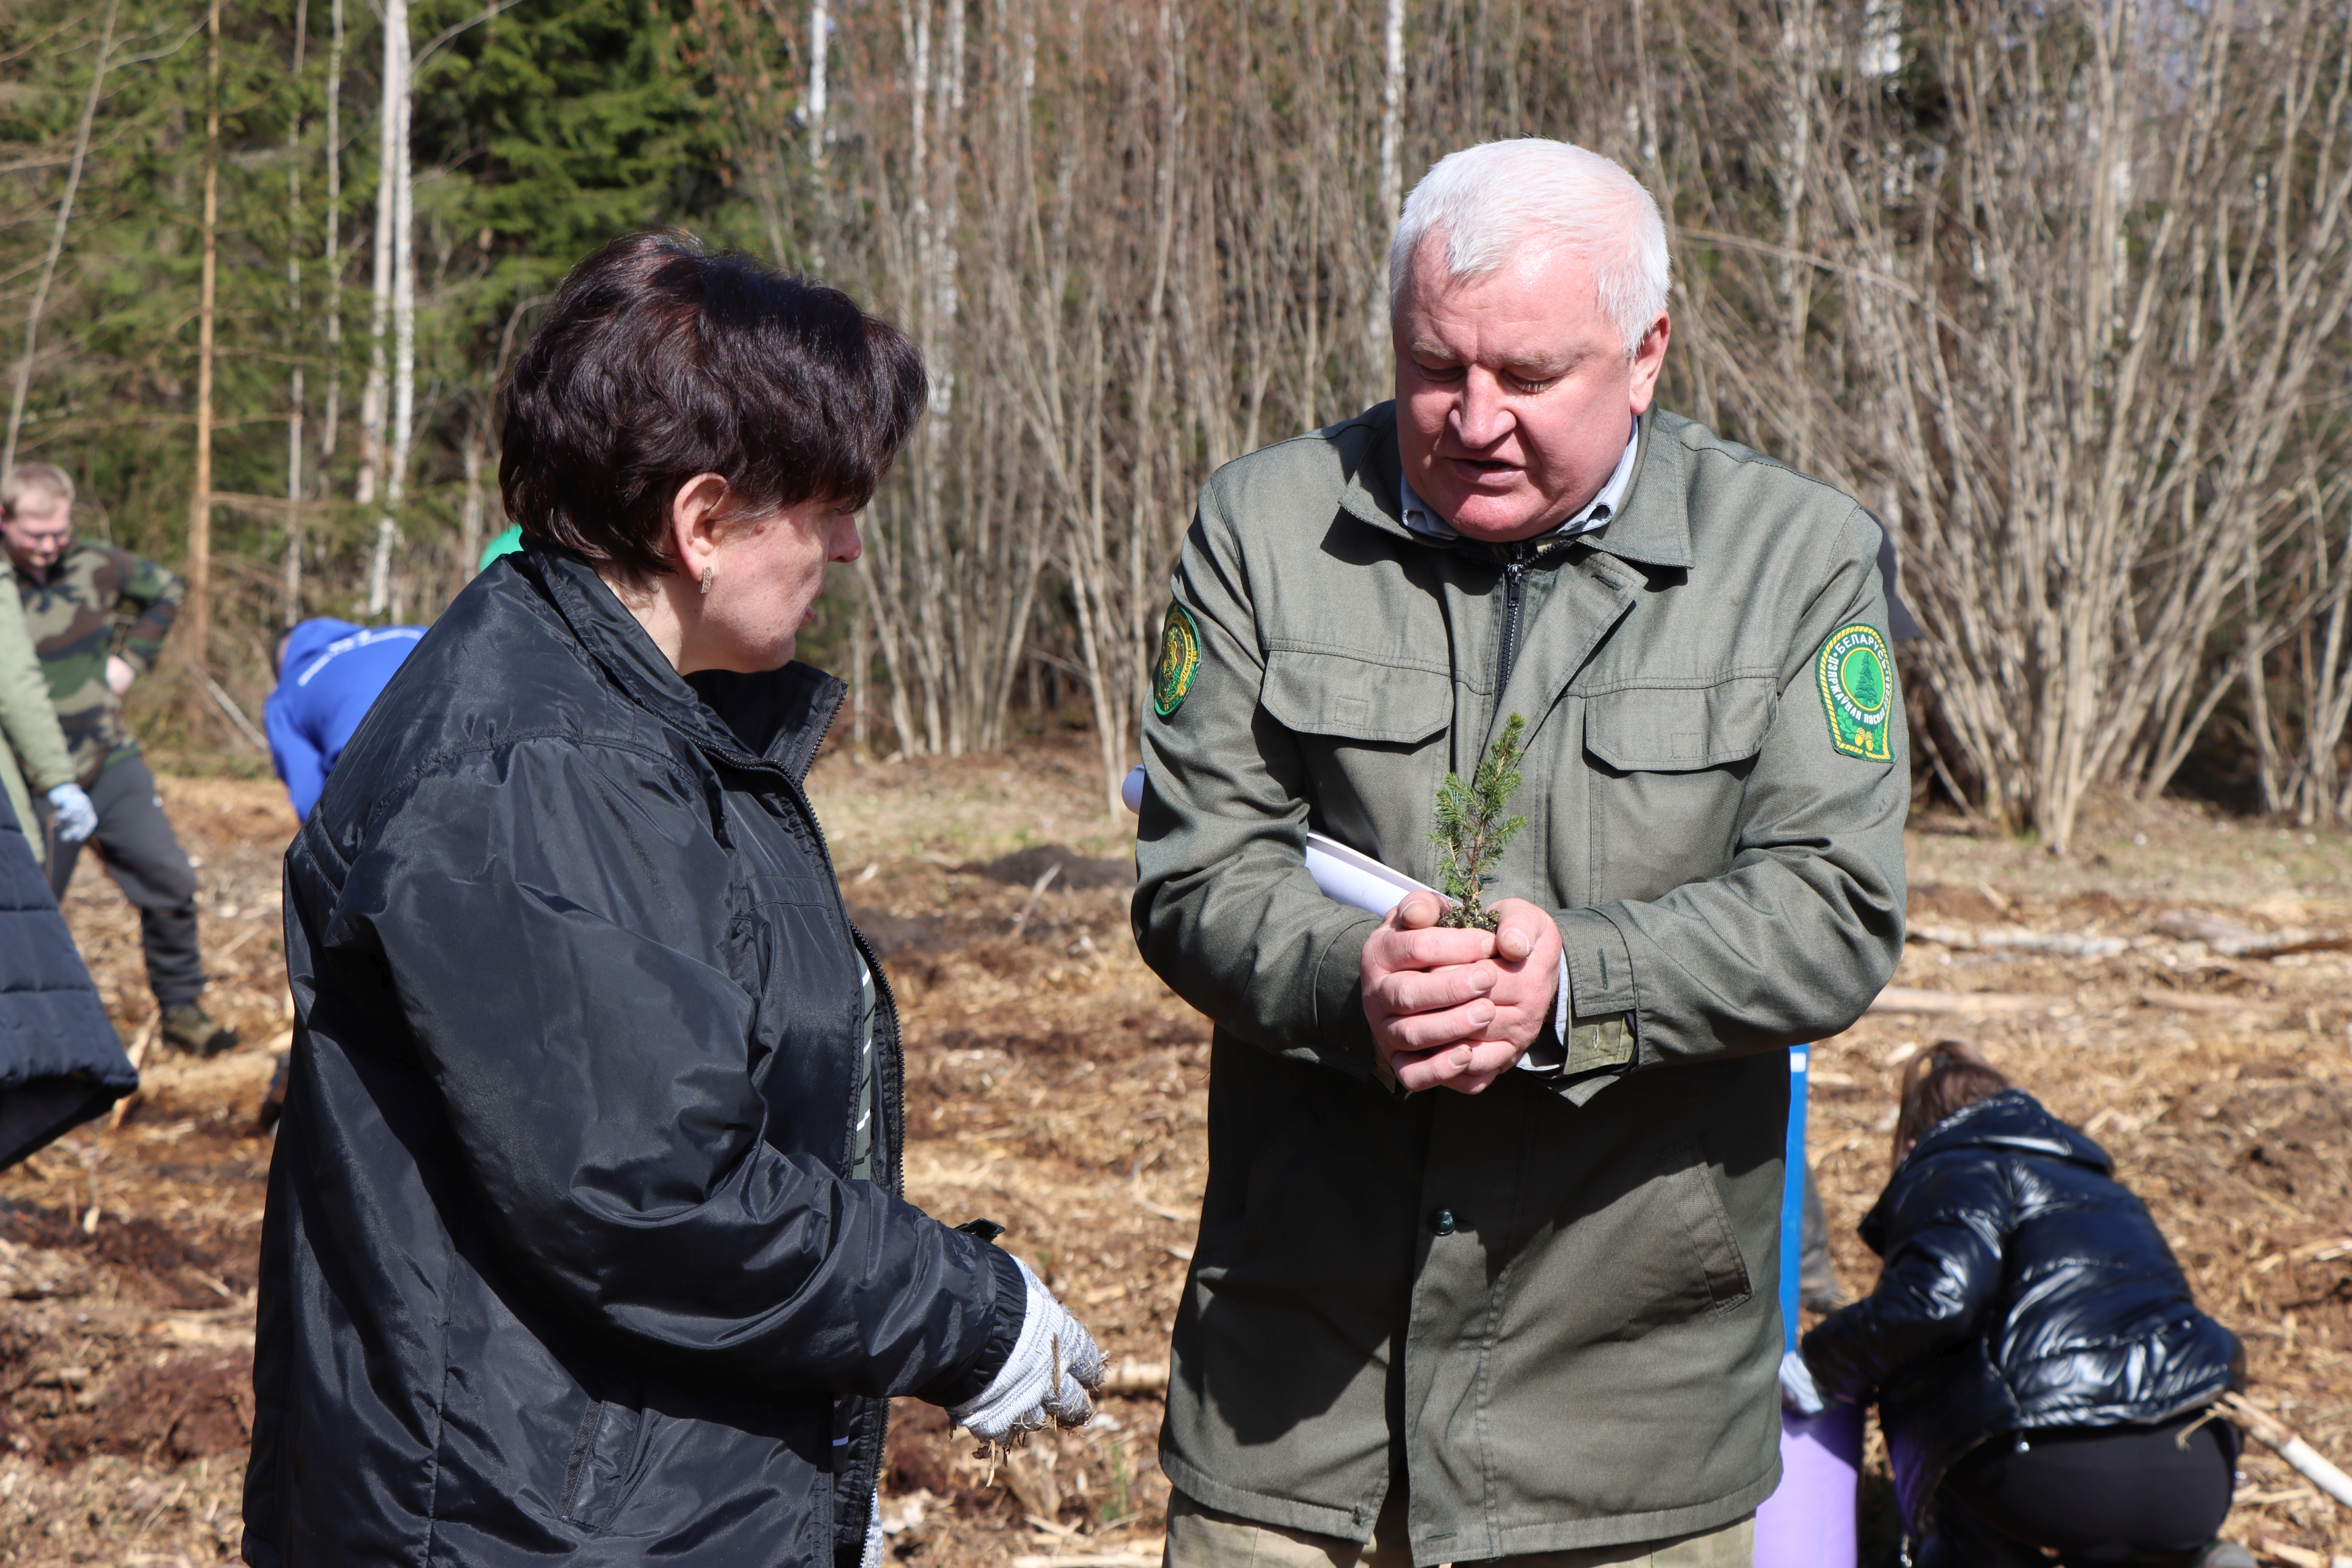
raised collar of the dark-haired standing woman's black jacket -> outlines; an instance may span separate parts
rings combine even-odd
[[[644,635],[628,607],[583,557],[524,541],[515,569],[548,597],[581,649],[612,682],[696,750],[739,769],[783,769],[800,783],[816,762],[847,686],[800,661],[760,675],[691,679]]]

